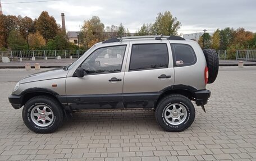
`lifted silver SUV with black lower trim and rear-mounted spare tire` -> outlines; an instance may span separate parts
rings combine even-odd
[[[183,131],[205,89],[218,73],[215,50],[202,50],[179,36],[111,38],[95,44],[72,65],[35,73],[19,81],[9,101],[23,108],[25,125],[38,133],[56,131],[72,111],[154,109],[166,131]]]

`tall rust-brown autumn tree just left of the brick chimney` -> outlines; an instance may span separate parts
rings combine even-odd
[[[54,17],[49,16],[47,11],[43,11],[36,21],[36,30],[39,31],[48,42],[48,40],[53,39],[61,29],[57,25]]]

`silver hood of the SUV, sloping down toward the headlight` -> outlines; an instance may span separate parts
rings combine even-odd
[[[49,80],[49,79],[59,79],[62,77],[67,76],[68,71],[63,70],[62,68],[54,69],[54,70],[49,70],[49,71],[44,71],[44,72],[39,72],[35,73],[32,75],[29,75],[27,77],[24,77],[20,81],[20,84],[26,83],[26,82],[33,82],[33,81],[42,81],[42,80]]]

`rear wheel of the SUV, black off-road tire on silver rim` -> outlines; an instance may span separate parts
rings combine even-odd
[[[183,112],[183,116],[173,116],[174,121],[176,121],[179,117],[181,121],[179,120],[177,122],[171,123],[173,118],[167,118],[168,116],[171,116],[171,113],[174,114],[177,111]],[[168,112],[172,111],[172,112]],[[170,115],[166,116],[167,113],[170,113]],[[194,105],[191,103],[191,101],[186,98],[184,95],[180,94],[173,94],[173,95],[167,95],[165,96],[160,102],[157,104],[157,109],[155,112],[156,120],[158,124],[166,131],[170,132],[180,132],[184,131],[187,128],[190,127],[190,125],[193,123],[195,119],[195,108]],[[175,125],[177,124],[177,125]]]

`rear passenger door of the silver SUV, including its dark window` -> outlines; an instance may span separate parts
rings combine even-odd
[[[167,40],[130,44],[124,79],[125,108],[153,108],[160,91],[175,79]]]

